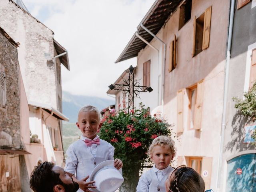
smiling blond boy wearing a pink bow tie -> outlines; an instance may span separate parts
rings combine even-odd
[[[114,160],[114,147],[97,135],[102,123],[100,112],[96,107],[90,105],[82,107],[78,112],[76,126],[82,132],[82,136],[68,147],[65,171],[76,176],[72,178],[78,182],[79,192],[90,192],[90,188],[96,187],[91,186],[94,181],[86,182],[86,180],[99,163]],[[122,161],[115,159],[114,166],[117,169],[122,168]]]

